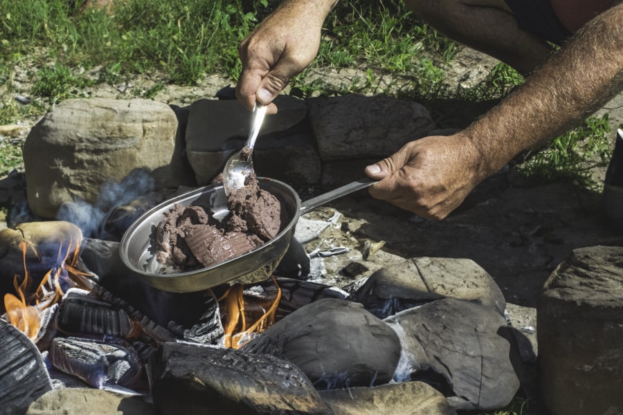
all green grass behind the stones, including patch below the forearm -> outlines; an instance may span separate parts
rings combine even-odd
[[[153,98],[167,84],[195,85],[210,73],[235,81],[237,45],[280,0],[117,0],[114,14],[84,8],[86,0],[0,0],[0,123],[42,115],[57,102],[84,95],[84,88],[116,85],[132,75],[150,75],[154,86],[134,92]],[[442,64],[457,45],[417,21],[400,0],[342,0],[323,28],[317,59],[291,81],[300,98],[345,93],[387,93],[424,102],[498,100],[523,83],[499,64],[469,89],[448,84]],[[17,66],[28,66],[33,102],[13,99]],[[360,77],[343,85],[310,80],[311,70],[358,68]],[[406,84],[381,81],[401,77]],[[440,121],[442,123],[442,120]],[[593,124],[591,124],[593,123]],[[606,160],[603,123],[557,138],[552,147],[525,161],[523,172],[543,180],[582,176],[586,160]],[[585,139],[586,136],[593,138]],[[580,145],[582,147],[580,147]],[[584,147],[584,146],[588,147]],[[13,160],[13,158],[8,158]],[[5,162],[5,160],[0,160]]]

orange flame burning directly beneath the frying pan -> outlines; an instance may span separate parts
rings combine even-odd
[[[277,285],[276,279],[273,277],[273,282],[277,286],[277,295],[275,299],[270,303],[268,307],[260,305],[262,315],[247,328],[247,317],[251,317],[255,310],[249,309],[245,311],[245,302],[242,295],[243,286],[241,284],[234,284],[225,292],[225,294],[217,301],[222,303],[224,313],[226,313],[226,320],[224,324],[224,347],[231,347],[232,349],[240,349],[246,342],[249,342],[253,335],[262,333],[275,323],[275,315],[277,307],[281,301],[281,288]]]

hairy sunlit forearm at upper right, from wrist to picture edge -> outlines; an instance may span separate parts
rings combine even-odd
[[[484,178],[575,127],[623,89],[623,5],[590,21],[523,86],[464,133]]]

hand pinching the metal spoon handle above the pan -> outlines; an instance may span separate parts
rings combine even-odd
[[[269,104],[267,113],[276,113],[271,101],[316,57],[326,13],[305,3],[284,3],[240,44],[236,97],[247,109],[257,101]]]

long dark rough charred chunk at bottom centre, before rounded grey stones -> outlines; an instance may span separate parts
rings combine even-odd
[[[150,358],[150,385],[163,415],[333,414],[291,363],[235,349],[167,342]]]

